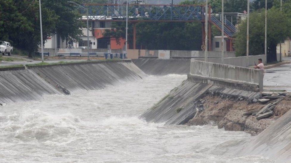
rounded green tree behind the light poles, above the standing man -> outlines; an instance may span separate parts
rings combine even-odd
[[[290,36],[290,23],[288,16],[273,7],[268,10],[267,17],[267,61],[276,61],[276,47]],[[282,21],[286,20],[286,21]],[[250,14],[250,55],[264,54],[264,10],[252,12]],[[247,21],[244,20],[238,28],[235,39],[235,49],[237,56],[246,55],[246,32]]]

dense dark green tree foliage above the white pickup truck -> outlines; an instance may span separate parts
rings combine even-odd
[[[44,41],[55,33],[67,41],[77,39],[83,25],[78,7],[60,0],[41,2]],[[0,15],[0,40],[10,41],[32,56],[41,42],[38,1],[0,0]]]

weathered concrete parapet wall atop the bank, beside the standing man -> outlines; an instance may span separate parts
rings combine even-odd
[[[191,59],[189,80],[228,88],[259,92],[263,90],[263,71],[246,67]]]

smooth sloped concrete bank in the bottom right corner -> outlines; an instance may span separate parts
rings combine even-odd
[[[244,155],[263,155],[277,162],[290,162],[291,110],[240,148]]]

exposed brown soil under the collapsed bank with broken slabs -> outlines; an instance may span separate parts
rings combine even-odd
[[[287,113],[291,109],[291,98],[284,97],[273,110],[274,115],[257,120],[255,115],[243,115],[246,112],[258,112],[266,104],[259,102],[249,104],[246,100],[233,98],[222,98],[218,95],[207,94],[200,102],[203,103],[204,110],[200,111],[196,117],[188,121],[187,125],[217,124],[219,128],[228,131],[245,131],[251,135],[262,132],[276,119]]]

